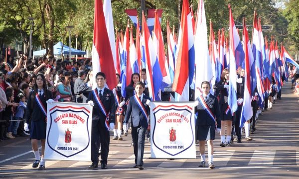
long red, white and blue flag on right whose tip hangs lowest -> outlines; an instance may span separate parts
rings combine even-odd
[[[244,98],[243,98],[243,106],[241,110],[241,120],[240,120],[240,127],[243,127],[244,123],[253,115],[252,107],[251,107],[251,96],[252,96],[252,88],[251,88],[251,81],[250,81],[250,68],[254,68],[252,64],[254,64],[254,59],[250,58],[250,53],[252,54],[250,47],[250,42],[248,38],[248,32],[245,24],[243,24],[243,41],[244,41],[244,52],[245,52],[245,77],[244,77]]]

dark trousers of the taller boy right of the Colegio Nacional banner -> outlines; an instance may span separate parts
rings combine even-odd
[[[91,161],[93,163],[99,163],[99,149],[101,145],[101,164],[107,164],[109,144],[109,131],[100,124],[100,121],[93,120],[91,128]]]

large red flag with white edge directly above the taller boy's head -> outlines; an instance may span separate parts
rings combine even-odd
[[[105,73],[108,88],[114,89],[117,82],[102,0],[95,0],[92,63],[93,73]]]

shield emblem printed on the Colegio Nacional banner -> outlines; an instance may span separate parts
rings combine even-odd
[[[47,121],[47,145],[64,157],[71,157],[85,151],[90,143],[88,123],[91,113],[84,107],[55,106],[49,110]]]

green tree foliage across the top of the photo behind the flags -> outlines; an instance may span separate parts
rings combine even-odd
[[[291,39],[299,44],[298,0],[290,0],[286,3],[284,13],[275,5],[280,1],[282,0],[204,0],[208,29],[209,19],[211,19],[215,31],[222,27],[228,30],[228,4],[230,3],[236,24],[242,23],[245,17],[247,25],[252,25],[253,13],[256,9],[262,24],[273,25],[273,31],[265,31],[264,35],[273,36],[279,41],[290,41],[288,37],[291,36]],[[114,26],[117,32],[120,32],[125,30],[129,19],[125,9],[136,8],[140,12],[141,0],[111,0],[111,2]],[[165,38],[167,20],[170,26],[178,27],[180,16],[178,7],[181,7],[181,3],[182,0],[145,0],[146,8],[163,9],[161,27]],[[189,0],[189,3],[193,5],[196,16],[198,0]],[[0,8],[0,45],[22,41],[29,48],[30,20],[28,17],[33,17],[35,49],[41,46],[52,54],[52,46],[55,42],[62,41],[68,44],[66,26],[72,25],[74,26],[71,30],[72,47],[75,46],[75,37],[77,37],[78,48],[91,51],[94,0],[0,0],[0,4],[3,4],[3,8]],[[129,23],[132,24],[131,20]]]

